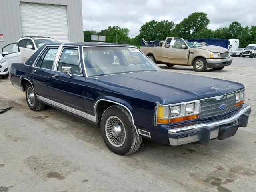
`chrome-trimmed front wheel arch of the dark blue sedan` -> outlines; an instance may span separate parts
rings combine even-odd
[[[128,102],[119,98],[115,98],[112,96],[105,96],[103,98],[98,99],[94,104],[94,114],[96,116],[96,121],[100,123],[100,120],[104,111],[112,105],[122,106],[130,114],[132,118],[132,124],[134,125],[136,133],[138,134],[138,130],[136,125],[134,124],[134,118],[132,115],[132,112],[133,112],[132,106]]]

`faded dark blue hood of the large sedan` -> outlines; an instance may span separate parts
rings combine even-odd
[[[164,104],[209,98],[244,88],[240,83],[227,80],[166,71],[98,76],[98,81],[111,84],[115,91],[119,89],[128,96],[133,96],[136,90],[136,96],[141,95],[141,99],[145,94],[161,98]]]

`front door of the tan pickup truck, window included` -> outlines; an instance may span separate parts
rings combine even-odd
[[[181,48],[185,45],[186,48]],[[181,38],[174,38],[170,43],[169,63],[187,65],[189,56],[189,48]]]

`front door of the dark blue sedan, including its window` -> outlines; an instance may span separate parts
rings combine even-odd
[[[69,76],[62,67],[71,67]],[[85,76],[78,59],[78,48],[64,48],[52,79],[52,99],[63,105],[84,112]]]

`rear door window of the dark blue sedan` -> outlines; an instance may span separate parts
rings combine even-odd
[[[52,69],[52,65],[56,56],[58,48],[49,48],[45,50],[42,56],[36,63],[36,67],[44,68],[44,69]]]

